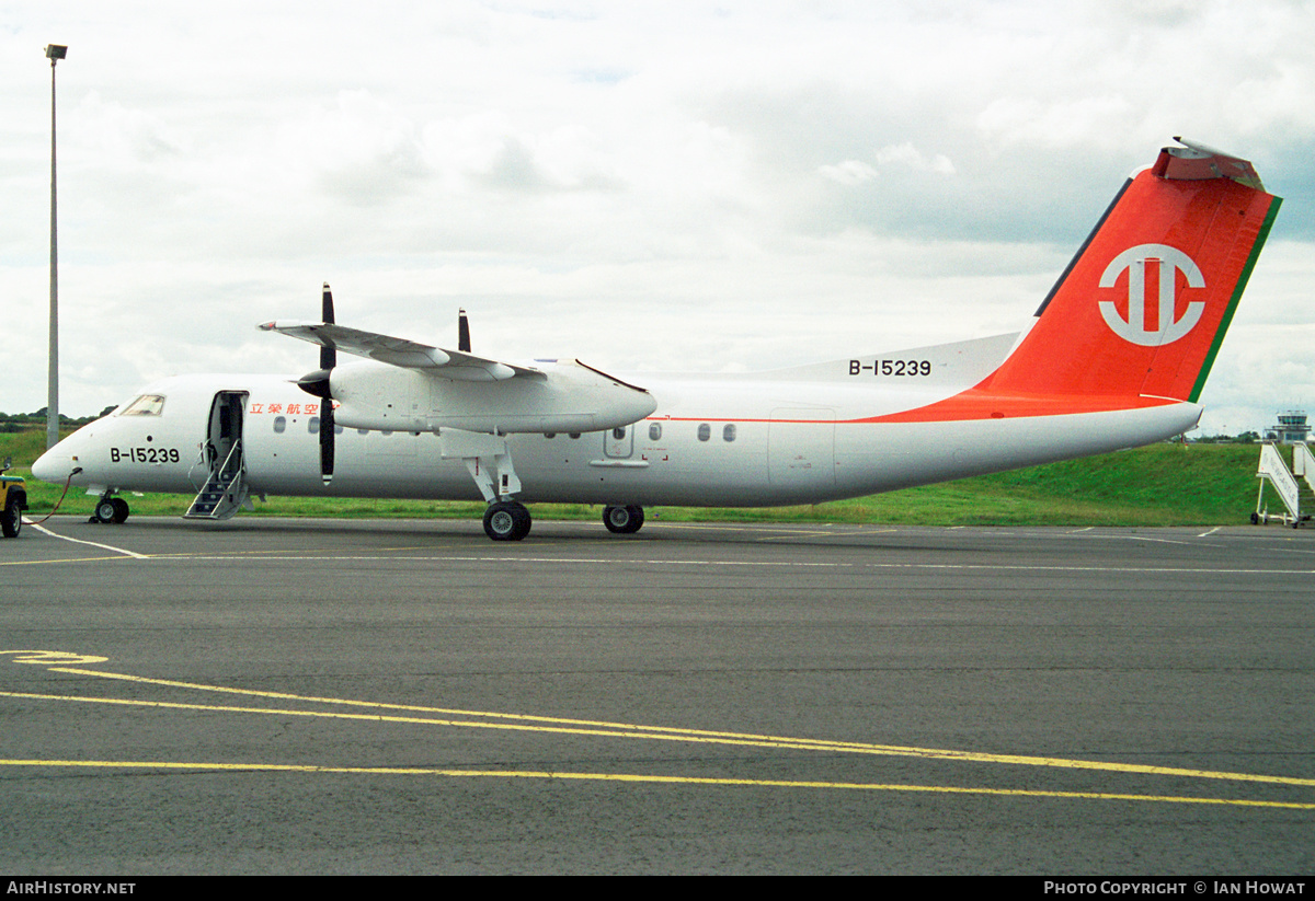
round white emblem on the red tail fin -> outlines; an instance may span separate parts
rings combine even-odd
[[[1147,271],[1155,271],[1159,281],[1159,309],[1155,328],[1148,328]],[[1191,301],[1181,319],[1176,319],[1178,273],[1187,280],[1187,288],[1205,288],[1206,278],[1195,260],[1168,244],[1137,244],[1115,256],[1101,276],[1101,288],[1114,288],[1124,272],[1128,273],[1128,315],[1119,315],[1114,301],[1101,301],[1101,315],[1115,335],[1141,347],[1173,344],[1197,327],[1206,311],[1205,301]]]

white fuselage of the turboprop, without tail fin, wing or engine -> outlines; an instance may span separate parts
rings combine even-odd
[[[780,374],[626,376],[656,399],[646,419],[605,431],[506,436],[523,483],[518,496],[642,506],[818,503],[1148,444],[1190,428],[1201,415],[1199,406],[1174,402],[880,422],[961,390],[965,377],[989,370],[1010,343],[980,348],[968,372],[939,381],[931,373],[882,380],[863,372],[864,364],[851,378],[851,361]],[[435,433],[442,429],[339,426],[337,465],[325,485],[318,402],[285,376],[180,376],[141,397],[153,401],[83,427],[42,456],[33,474],[62,483],[76,469],[72,485],[93,493],[196,493],[214,462],[217,405],[227,399],[239,418],[225,428],[241,437],[252,495],[480,499],[463,461],[443,458]]]

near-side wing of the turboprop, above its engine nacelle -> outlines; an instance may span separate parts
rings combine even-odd
[[[462,382],[493,382],[508,378],[546,378],[543,370],[479,357],[463,351],[446,351],[405,338],[335,326],[323,322],[266,322],[262,331],[276,331],[320,347],[346,351],[367,360],[377,360],[404,369],[421,369],[442,378]]]

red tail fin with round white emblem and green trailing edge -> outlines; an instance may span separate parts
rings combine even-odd
[[[1279,204],[1245,160],[1160,151],[980,387],[1195,402]]]

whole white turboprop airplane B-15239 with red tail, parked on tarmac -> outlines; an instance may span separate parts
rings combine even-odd
[[[325,285],[323,322],[260,326],[320,344],[318,370],[158,381],[32,472],[99,495],[107,523],[128,517],[121,491],[196,493],[205,519],[252,495],[483,496],[488,536],[517,541],[522,502],[604,504],[629,533],[644,506],[818,503],[1159,441],[1199,419],[1281,204],[1251,163],[1177,141],[1022,335],[622,380],[476,356],[464,313],[455,351],[338,326]]]

